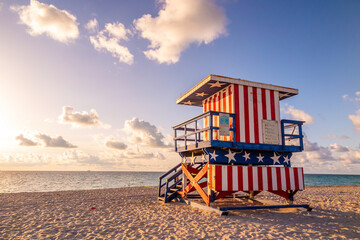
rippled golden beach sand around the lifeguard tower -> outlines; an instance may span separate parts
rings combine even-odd
[[[0,194],[0,239],[360,239],[360,186],[308,187],[295,203],[310,204],[310,213],[228,216],[160,203],[156,192],[133,187]]]

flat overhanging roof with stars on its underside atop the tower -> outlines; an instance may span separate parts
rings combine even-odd
[[[186,92],[184,95],[179,97],[176,100],[176,104],[201,107],[203,100],[210,97],[214,93],[221,91],[230,84],[239,84],[249,87],[258,87],[268,90],[279,91],[280,100],[297,95],[299,93],[299,90],[295,88],[287,88],[272,84],[252,82],[240,78],[230,78],[230,77],[210,74],[209,76],[204,78],[201,82],[199,82],[196,86],[194,86],[188,92]]]

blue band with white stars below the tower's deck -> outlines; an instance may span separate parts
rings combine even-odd
[[[206,148],[211,164],[253,164],[253,165],[285,165],[290,166],[292,153],[272,151],[252,151],[233,149]]]

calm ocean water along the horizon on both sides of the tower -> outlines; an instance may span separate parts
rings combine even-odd
[[[157,186],[162,172],[0,171],[0,193]],[[305,186],[360,186],[360,175],[305,174]]]

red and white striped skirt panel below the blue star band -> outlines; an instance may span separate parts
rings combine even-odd
[[[214,191],[304,190],[303,168],[214,165],[209,168]]]

